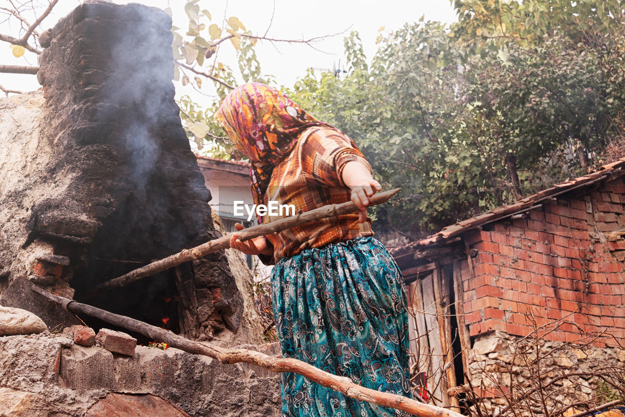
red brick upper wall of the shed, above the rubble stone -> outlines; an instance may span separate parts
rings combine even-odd
[[[551,340],[574,341],[576,326],[624,340],[625,239],[605,234],[625,229],[624,212],[621,177],[562,195],[523,219],[469,232],[465,239],[478,250],[473,274],[462,274],[471,336],[491,330],[525,336],[526,312],[533,310],[551,320],[567,317]]]

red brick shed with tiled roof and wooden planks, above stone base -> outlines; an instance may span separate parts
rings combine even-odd
[[[621,159],[391,250],[409,293],[414,366],[442,404],[457,406],[477,341],[531,334],[529,314],[559,321],[549,341],[625,341],[624,174]]]

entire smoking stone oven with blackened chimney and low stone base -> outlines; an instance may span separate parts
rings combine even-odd
[[[221,235],[174,101],[170,29],[159,9],[86,1],[40,37],[42,91],[0,100],[0,304],[43,303],[17,285],[27,279],[189,339],[257,343],[251,275],[224,251],[84,297]],[[177,349],[138,346],[128,356],[76,346],[61,331],[79,319],[39,310],[47,331],[0,337],[0,411],[21,410],[6,415],[84,415],[120,390],[160,394],[197,416],[279,411],[277,378],[259,368]]]

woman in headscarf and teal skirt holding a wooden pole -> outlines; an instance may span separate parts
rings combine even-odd
[[[231,247],[275,263],[272,301],[282,356],[410,397],[406,291],[391,255],[372,238],[366,207],[381,187],[367,160],[341,131],[263,84],[231,91],[216,119],[251,161],[254,203],[274,200],[308,211],[351,199],[359,209],[246,242],[232,236]],[[281,385],[285,416],[407,415],[294,373],[283,373]]]

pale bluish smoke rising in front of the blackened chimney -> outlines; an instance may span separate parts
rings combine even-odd
[[[116,11],[113,30],[103,39],[110,46],[111,75],[101,91],[108,110],[99,119],[118,126],[134,192],[143,196],[162,152],[159,131],[173,99],[171,33],[163,13],[138,4]]]

